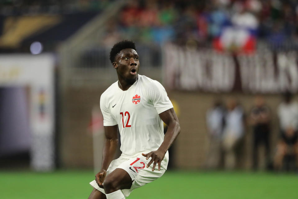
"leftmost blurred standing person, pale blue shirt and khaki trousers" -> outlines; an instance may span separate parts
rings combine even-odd
[[[208,129],[209,148],[206,167],[216,169],[220,161],[221,137],[224,128],[225,108],[221,101],[216,101],[214,106],[207,111],[206,123]]]

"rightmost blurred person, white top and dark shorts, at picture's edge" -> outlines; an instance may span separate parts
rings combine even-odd
[[[283,168],[285,157],[298,161],[298,103],[292,100],[290,92],[286,92],[283,97],[284,101],[278,106],[281,137],[274,158],[277,170]]]

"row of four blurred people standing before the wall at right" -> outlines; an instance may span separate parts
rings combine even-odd
[[[273,145],[272,111],[279,119],[278,141]],[[260,168],[260,146],[263,146],[265,168],[279,170],[298,169],[298,103],[290,92],[283,94],[283,101],[271,110],[264,97],[256,96],[249,113],[245,113],[235,98],[224,104],[221,100],[206,114],[209,149],[206,167],[234,169],[243,156],[245,134],[252,128],[252,168]],[[273,146],[271,149],[270,146]]]

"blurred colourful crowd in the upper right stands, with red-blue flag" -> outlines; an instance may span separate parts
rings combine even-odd
[[[123,38],[163,44],[213,42],[218,50],[251,52],[256,39],[273,45],[297,40],[297,0],[129,1],[109,20],[106,42]]]

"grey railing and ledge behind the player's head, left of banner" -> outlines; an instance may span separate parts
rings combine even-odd
[[[109,60],[111,47],[95,44],[80,50],[69,50],[63,56],[61,81],[63,86],[109,86],[117,79]],[[137,44],[140,72],[161,81],[162,50],[160,46]],[[76,52],[75,52],[76,51]],[[76,56],[74,56],[76,55]]]

